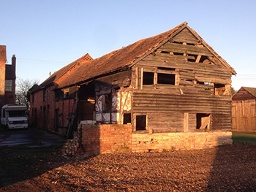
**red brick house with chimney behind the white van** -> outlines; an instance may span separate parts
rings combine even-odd
[[[16,57],[12,55],[12,64],[6,64],[6,46],[0,45],[0,107],[15,104]]]

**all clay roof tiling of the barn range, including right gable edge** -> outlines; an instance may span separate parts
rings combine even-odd
[[[173,28],[170,31],[166,31],[165,33],[159,34],[154,37],[149,37],[147,39],[141,39],[140,41],[135,42],[132,45],[128,45],[127,47],[123,47],[119,50],[115,50],[91,61],[78,59],[77,61],[74,61],[73,63],[65,66],[58,72],[54,73],[48,78],[48,80],[42,82],[42,84],[39,85],[39,88],[42,88],[45,85],[50,85],[53,82],[55,82],[56,88],[65,88],[72,85],[80,85],[83,82],[94,80],[97,77],[103,76],[105,74],[110,74],[111,72],[130,67],[133,64],[136,64],[137,61],[140,61],[140,59],[143,59],[146,55],[151,53],[151,51],[157,49],[157,47],[167,42],[167,40],[169,40],[171,37],[174,37],[176,34],[178,34],[179,31],[181,31],[185,27],[189,28],[187,26],[187,22],[181,23],[179,26],[176,26],[176,28]],[[200,36],[198,36],[195,32],[193,33],[195,34],[195,36],[197,36],[197,38],[203,41]],[[213,52],[214,50],[210,49],[210,51]],[[233,71],[233,68],[226,64],[225,61],[222,60],[222,58],[219,58],[219,60],[223,64],[225,64],[227,69],[230,69],[230,72],[236,74],[236,72]],[[79,64],[76,65],[78,61]],[[69,69],[72,68],[74,65],[75,68],[70,71]],[[62,77],[60,78],[60,76]]]

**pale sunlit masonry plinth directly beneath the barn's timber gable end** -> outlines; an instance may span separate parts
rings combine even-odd
[[[232,145],[232,133],[222,132],[189,132],[162,134],[132,134],[132,151],[148,152],[150,150],[198,150]]]

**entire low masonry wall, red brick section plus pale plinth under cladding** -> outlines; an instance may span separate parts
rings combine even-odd
[[[190,133],[132,133],[131,125],[91,125],[78,127],[80,147],[89,155],[165,150],[197,150],[232,145],[230,131]]]

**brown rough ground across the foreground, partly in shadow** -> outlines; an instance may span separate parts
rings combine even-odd
[[[0,148],[0,191],[256,191],[256,145],[64,157]]]

